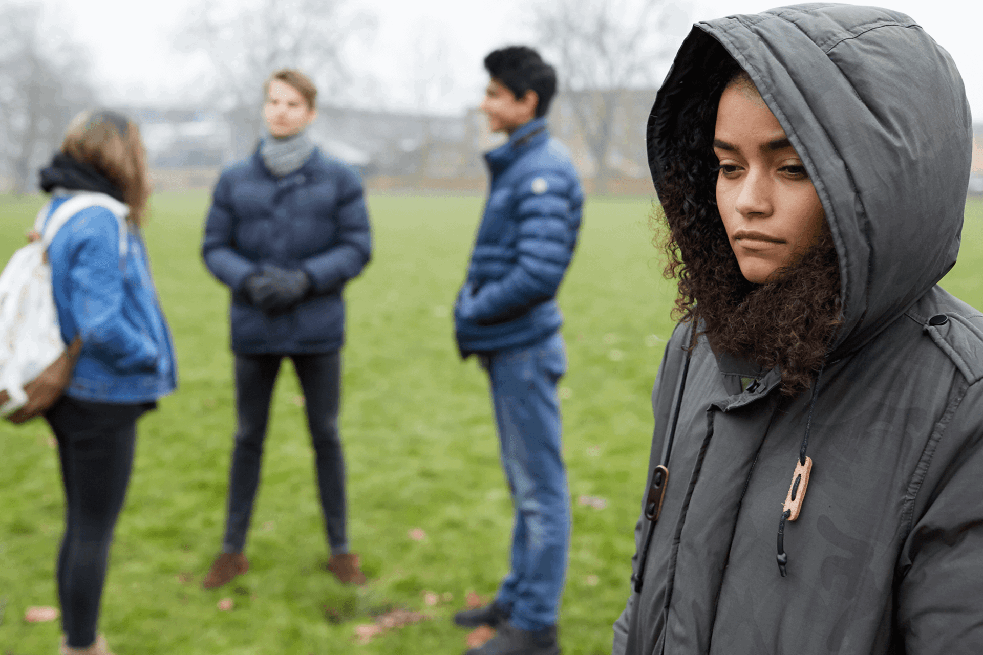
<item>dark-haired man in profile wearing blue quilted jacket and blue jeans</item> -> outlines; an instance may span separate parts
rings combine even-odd
[[[469,655],[554,655],[570,503],[556,384],[566,371],[556,291],[577,245],[584,195],[546,114],[556,74],[533,49],[485,58],[482,110],[508,142],[486,154],[492,188],[454,307],[462,357],[489,373],[501,461],[515,505],[511,571],[490,605],[459,612],[463,628],[496,628]]]

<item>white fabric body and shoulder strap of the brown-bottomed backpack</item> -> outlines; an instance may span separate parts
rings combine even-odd
[[[72,193],[45,226],[50,204],[34,220],[41,239],[17,250],[0,273],[0,391],[10,397],[0,406],[0,416],[22,408],[28,402],[24,386],[65,351],[51,291],[51,266],[44,256],[58,230],[83,209],[105,207],[119,221],[121,261],[127,253],[130,209],[116,198],[88,191]]]

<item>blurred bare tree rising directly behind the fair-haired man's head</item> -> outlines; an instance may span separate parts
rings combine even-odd
[[[232,128],[233,154],[256,145],[262,122],[261,85],[279,68],[298,68],[332,100],[352,82],[345,58],[353,37],[375,25],[347,11],[346,0],[256,0],[241,5],[208,0],[189,17],[179,38],[185,50],[203,51],[214,69],[214,100]]]

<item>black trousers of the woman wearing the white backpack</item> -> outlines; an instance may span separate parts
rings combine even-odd
[[[63,396],[44,415],[58,440],[65,484],[58,598],[62,629],[73,648],[86,648],[95,641],[109,545],[133,467],[137,419],[153,406]]]

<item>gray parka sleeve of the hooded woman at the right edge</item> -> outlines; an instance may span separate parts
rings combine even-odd
[[[961,385],[926,449],[935,452],[898,560],[907,655],[983,653],[983,381]]]

